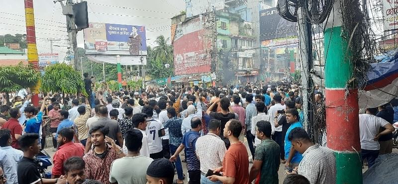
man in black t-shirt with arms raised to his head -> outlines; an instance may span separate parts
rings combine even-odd
[[[220,102],[221,112],[212,112],[215,104]],[[210,107],[208,107],[206,113],[210,115],[211,118],[217,119],[221,121],[221,130],[224,130],[225,124],[231,119],[238,119],[237,115],[233,112],[233,109],[230,107],[231,103],[227,97],[223,97],[214,101]],[[224,137],[223,132],[220,132],[221,139],[225,142],[225,147],[228,149],[230,146],[229,140]]]

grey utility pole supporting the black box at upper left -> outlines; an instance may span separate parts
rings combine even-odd
[[[62,1],[64,0],[55,0],[54,2],[60,2],[62,6],[62,13],[66,15],[66,27],[68,31],[69,42],[71,47],[73,48],[74,57],[71,60],[71,64],[74,66],[75,70],[78,71],[80,69],[79,63],[79,53],[78,53],[78,42],[76,39],[77,28],[75,24],[75,17],[73,13],[73,0],[66,0],[66,4]]]

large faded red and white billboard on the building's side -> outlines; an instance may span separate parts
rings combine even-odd
[[[209,73],[211,68],[211,29],[203,27],[208,17],[196,17],[178,24],[174,37],[175,75]]]

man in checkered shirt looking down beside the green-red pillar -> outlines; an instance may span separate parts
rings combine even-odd
[[[303,157],[295,169],[299,175],[307,178],[310,184],[336,183],[336,159],[329,148],[313,144],[302,128],[294,128],[289,134],[289,140]]]

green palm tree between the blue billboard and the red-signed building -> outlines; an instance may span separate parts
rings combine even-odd
[[[147,48],[147,73],[152,79],[167,78],[173,75],[173,46],[168,44],[170,38],[163,35],[156,38],[157,46]],[[169,68],[165,65],[168,64]]]

